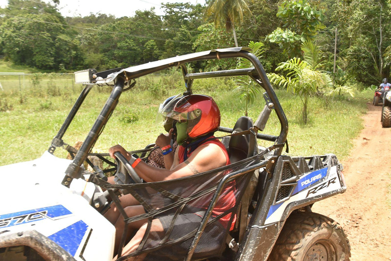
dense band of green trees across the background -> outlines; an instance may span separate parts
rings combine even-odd
[[[301,44],[311,39],[324,51],[322,70],[333,71],[336,51],[339,73],[334,81],[344,75],[344,84],[369,85],[389,76],[391,49],[386,48],[391,45],[391,15],[386,0],[209,0],[208,9],[170,3],[162,4],[162,16],[151,9],[121,18],[105,14],[64,18],[57,3],[9,0],[0,10],[0,55],[46,70],[127,67],[235,46],[231,32],[214,26],[223,23],[235,26],[239,46],[264,43],[262,62],[270,72],[289,58],[302,58]],[[193,69],[234,63],[200,63]]]

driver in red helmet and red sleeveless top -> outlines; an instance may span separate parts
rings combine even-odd
[[[220,111],[212,97],[206,95],[184,96],[175,105],[169,104],[161,108],[159,113],[177,121],[177,142],[179,146],[175,151],[174,163],[171,169],[159,169],[135,159],[120,145],[109,149],[110,156],[115,158],[114,152],[121,152],[137,174],[147,182],[186,177],[230,164],[225,146],[220,141],[213,139],[213,134],[220,124]],[[231,189],[234,190],[234,186]],[[217,216],[235,205],[233,191],[225,194],[226,196],[220,198],[217,202],[213,215]],[[125,197],[125,201],[128,202],[125,212],[129,217],[146,213],[144,207],[130,194],[121,197],[122,202],[124,202]],[[230,216],[227,219],[229,220]],[[234,222],[232,222],[230,230],[233,229],[233,225]],[[115,226],[117,230],[115,251],[117,251],[125,226],[122,217],[118,217]],[[130,254],[137,249],[146,228],[147,220],[139,220],[129,224],[129,234],[134,229],[138,229],[138,231],[124,247],[123,255]]]

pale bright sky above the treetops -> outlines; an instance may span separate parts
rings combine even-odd
[[[26,0],[34,2],[33,0]],[[43,0],[44,2],[51,2]],[[52,3],[52,2],[51,2]],[[63,16],[88,16],[90,13],[112,14],[114,16],[133,16],[136,10],[155,8],[157,15],[162,15],[161,3],[190,3],[205,5],[205,0],[60,0],[59,9]],[[7,0],[0,0],[0,6],[5,7]]]

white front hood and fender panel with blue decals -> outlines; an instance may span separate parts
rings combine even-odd
[[[115,227],[90,205],[95,185],[82,179],[70,189],[61,185],[70,162],[46,151],[40,159],[0,167],[0,239],[36,230],[76,260],[111,260]]]

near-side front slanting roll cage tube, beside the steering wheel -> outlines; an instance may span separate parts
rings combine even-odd
[[[78,177],[79,170],[81,168],[80,166],[82,165],[83,161],[86,160],[88,152],[94,146],[105,124],[110,118],[111,113],[113,113],[114,109],[116,108],[122,90],[124,89],[124,85],[125,79],[123,75],[118,75],[113,91],[111,91],[111,94],[108,97],[94,125],[92,126],[90,133],[81,145],[79,151],[76,153],[73,162],[69,164],[67,170],[65,171],[65,177],[62,181],[62,185],[69,188],[72,179]]]

